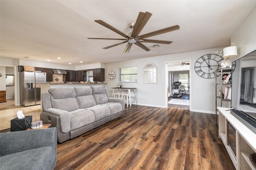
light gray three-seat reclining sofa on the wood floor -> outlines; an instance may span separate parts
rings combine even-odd
[[[60,143],[124,114],[124,99],[108,98],[104,86],[50,88],[42,94],[43,124],[57,127]]]

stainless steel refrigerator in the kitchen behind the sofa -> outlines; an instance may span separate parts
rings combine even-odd
[[[46,72],[20,72],[20,105],[41,104],[41,86],[46,83]]]

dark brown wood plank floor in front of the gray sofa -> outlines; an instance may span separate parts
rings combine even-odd
[[[55,170],[235,170],[215,115],[136,106],[57,145]]]

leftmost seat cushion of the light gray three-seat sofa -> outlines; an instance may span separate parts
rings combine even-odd
[[[79,112],[70,112],[71,131],[94,122],[94,113],[91,110],[82,110]]]

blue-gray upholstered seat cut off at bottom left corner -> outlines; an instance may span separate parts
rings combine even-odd
[[[0,133],[1,170],[53,170],[56,128]]]

